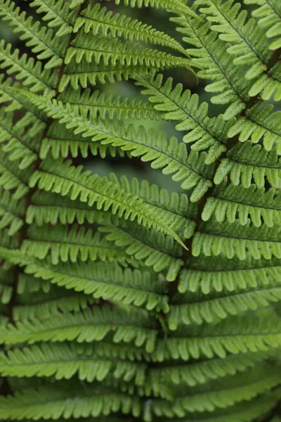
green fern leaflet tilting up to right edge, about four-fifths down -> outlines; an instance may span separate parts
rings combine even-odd
[[[234,316],[218,324],[179,326],[166,340],[158,340],[155,358],[225,358],[228,354],[258,352],[280,347],[280,320],[268,312],[266,317]]]

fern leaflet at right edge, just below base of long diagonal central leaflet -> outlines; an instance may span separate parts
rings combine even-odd
[[[214,196],[207,198],[202,219],[207,221],[214,215],[216,221],[234,223],[237,218],[244,226],[251,220],[254,226],[266,224],[268,227],[281,225],[281,196],[270,188],[258,189],[254,184],[249,188],[233,184],[218,185]]]

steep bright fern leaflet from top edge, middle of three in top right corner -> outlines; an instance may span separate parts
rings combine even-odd
[[[204,5],[200,9],[207,13],[211,30],[220,33],[223,41],[230,42],[227,52],[235,56],[233,63],[238,66],[248,65],[246,79],[259,79],[255,82],[264,99],[274,94],[275,101],[281,98],[280,63],[270,63],[270,47],[267,37],[256,25],[254,18],[247,20],[247,11],[241,9],[241,4],[233,0],[199,0],[197,4]],[[253,95],[251,91],[250,95]]]

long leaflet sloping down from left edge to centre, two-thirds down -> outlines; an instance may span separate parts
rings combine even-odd
[[[92,295],[95,299],[145,306],[167,312],[167,296],[162,281],[152,278],[148,271],[122,269],[117,264],[63,264],[52,266],[44,262],[27,265],[27,274],[34,274],[58,286],[65,286]]]

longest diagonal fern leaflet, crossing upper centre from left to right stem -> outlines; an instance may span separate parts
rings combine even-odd
[[[41,98],[32,94],[25,94],[31,101],[43,108],[50,117],[66,124],[68,129],[75,128],[74,133],[91,136],[92,141],[101,141],[103,144],[118,146],[124,151],[130,151],[134,157],[141,157],[143,161],[152,161],[152,168],[163,168],[164,174],[174,174],[175,181],[183,180],[181,187],[194,188],[190,196],[191,202],[199,200],[212,185],[209,179],[211,168],[204,165],[205,154],[198,155],[192,151],[188,155],[183,143],[175,138],[166,141],[166,136],[154,130],[145,132],[143,127],[138,131],[130,125],[125,129],[122,124],[111,124],[105,121],[90,122],[86,117],[79,115],[77,108],[72,109],[70,104],[63,105],[61,101],[45,103]]]

